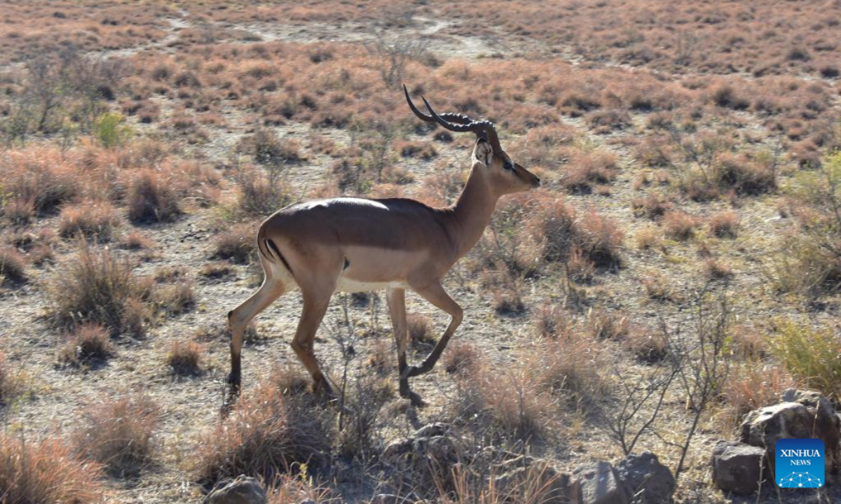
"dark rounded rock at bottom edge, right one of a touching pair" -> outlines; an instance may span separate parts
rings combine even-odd
[[[657,455],[628,455],[616,465],[616,473],[631,501],[638,504],[669,504],[674,494],[674,476]]]

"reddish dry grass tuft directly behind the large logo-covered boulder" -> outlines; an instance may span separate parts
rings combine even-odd
[[[778,365],[746,362],[733,365],[722,383],[722,394],[741,418],[745,413],[780,401],[785,389],[796,386],[794,379]]]

